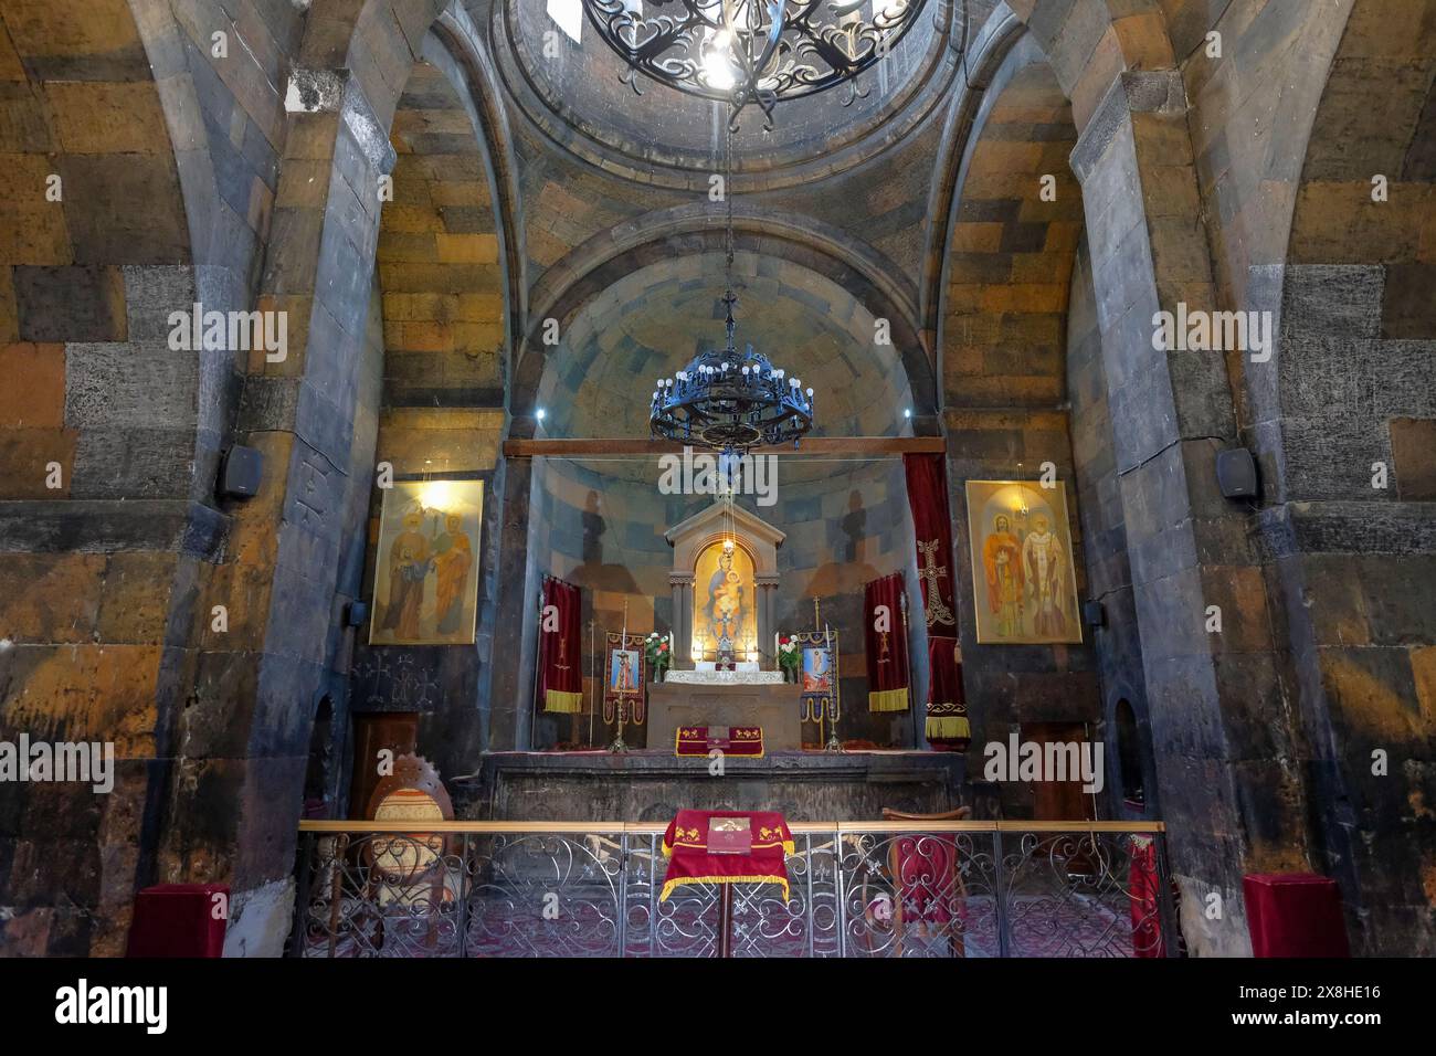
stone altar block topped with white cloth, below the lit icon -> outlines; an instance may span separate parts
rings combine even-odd
[[[672,749],[681,726],[763,728],[768,751],[803,747],[800,688],[785,684],[780,671],[745,670],[669,671],[648,687],[648,744]]]

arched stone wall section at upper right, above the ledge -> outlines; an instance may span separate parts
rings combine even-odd
[[[1436,434],[1414,425],[1436,418],[1422,345],[1436,339],[1436,19],[1422,16],[1419,4],[1357,0],[1315,108],[1282,272],[1279,355],[1245,366],[1256,430],[1271,438],[1261,444],[1268,501],[1436,496],[1417,455]],[[1344,368],[1327,369],[1338,359]],[[1371,487],[1374,461],[1397,463],[1391,487]]]

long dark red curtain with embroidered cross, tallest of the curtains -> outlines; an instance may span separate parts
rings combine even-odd
[[[941,454],[905,454],[908,503],[918,540],[923,622],[928,626],[928,743],[938,751],[966,751],[972,737],[958,662],[956,573],[948,474]]]

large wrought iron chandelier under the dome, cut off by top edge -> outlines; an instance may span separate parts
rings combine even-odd
[[[885,59],[928,0],[583,0],[599,36],[638,75],[727,102],[732,121],[843,85],[843,105],[866,98],[859,75]]]

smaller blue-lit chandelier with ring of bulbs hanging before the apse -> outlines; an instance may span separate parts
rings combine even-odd
[[[727,136],[727,175],[732,175],[732,135]],[[672,378],[659,378],[649,408],[649,432],[655,438],[705,447],[724,454],[745,454],[754,447],[793,447],[813,428],[813,389],[800,378],[788,378],[768,358],[748,345],[738,351],[732,309],[732,185],[724,184],[728,216],[725,230],[725,274],[728,290],[724,326],[728,342],[722,349],[699,352]]]

